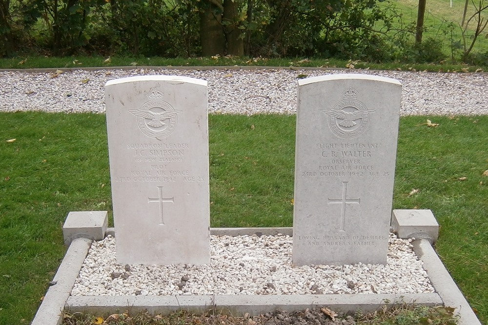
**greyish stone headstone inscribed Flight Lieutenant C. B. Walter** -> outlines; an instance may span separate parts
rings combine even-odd
[[[386,264],[401,84],[299,80],[293,263]]]

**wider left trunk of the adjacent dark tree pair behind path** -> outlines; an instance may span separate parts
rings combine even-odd
[[[200,12],[200,41],[204,57],[224,55],[225,37],[222,28],[223,6],[218,1],[207,1]]]

